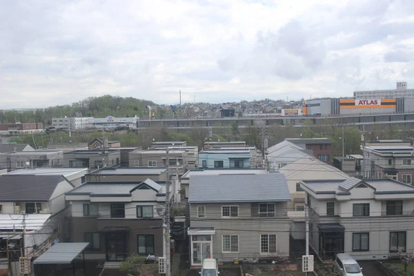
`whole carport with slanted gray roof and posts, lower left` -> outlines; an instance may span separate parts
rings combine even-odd
[[[82,253],[83,275],[85,275],[85,248],[88,242],[62,242],[54,244],[45,253],[34,260],[34,275],[42,275],[41,266],[52,264],[56,268],[57,264],[72,264],[72,273],[75,276],[75,258]],[[56,274],[56,269],[55,269]]]

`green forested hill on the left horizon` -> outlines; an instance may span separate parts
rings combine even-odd
[[[157,106],[152,101],[135,99],[132,97],[117,97],[105,95],[101,97],[89,97],[77,103],[65,106],[51,106],[45,110],[24,112],[0,112],[1,123],[21,122],[43,122],[45,126],[51,124],[52,117],[138,117],[148,116],[146,106]]]

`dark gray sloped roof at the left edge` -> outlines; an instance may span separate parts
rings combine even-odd
[[[49,201],[63,180],[62,175],[0,175],[0,201]]]

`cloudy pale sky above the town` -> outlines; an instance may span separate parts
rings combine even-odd
[[[0,108],[414,88],[413,0],[0,0]]]

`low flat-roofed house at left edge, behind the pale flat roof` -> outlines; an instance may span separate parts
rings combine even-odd
[[[32,150],[0,154],[0,164],[6,164],[9,171],[22,168],[61,167],[61,150]]]

